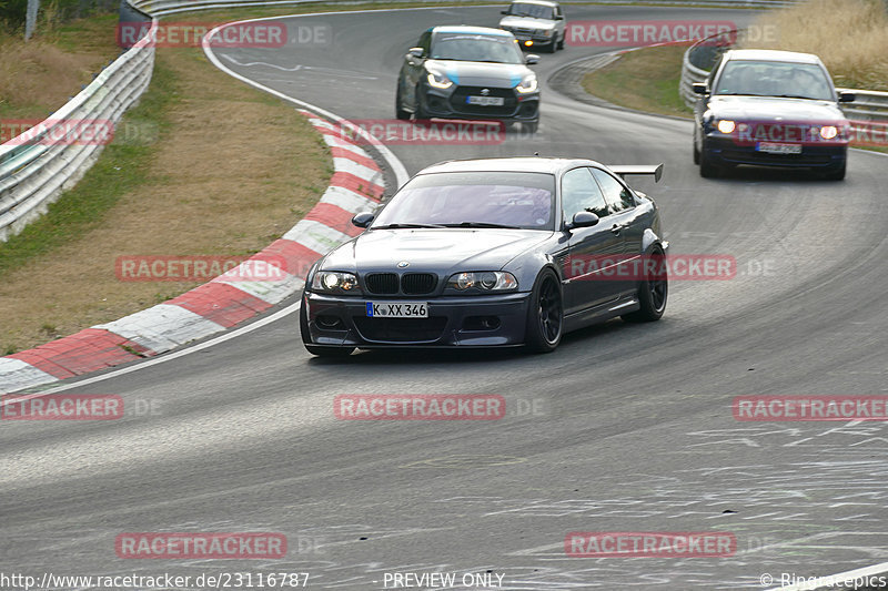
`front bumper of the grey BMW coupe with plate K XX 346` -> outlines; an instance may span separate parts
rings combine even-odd
[[[309,334],[332,347],[507,347],[524,343],[527,292],[475,297],[340,297],[305,293]],[[366,303],[425,302],[428,318],[370,318]],[[496,318],[496,322],[493,320]],[[486,323],[486,324],[485,324]]]

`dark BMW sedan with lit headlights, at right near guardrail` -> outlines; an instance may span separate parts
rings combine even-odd
[[[694,163],[702,176],[739,164],[806,167],[845,177],[851,128],[817,55],[730,50],[709,79],[694,84]]]

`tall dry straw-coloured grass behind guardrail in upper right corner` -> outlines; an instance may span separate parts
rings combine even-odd
[[[755,47],[816,53],[837,86],[888,90],[886,8],[881,0],[809,0],[768,11],[756,24],[774,26],[775,39]]]

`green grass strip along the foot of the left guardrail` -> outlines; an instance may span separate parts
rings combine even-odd
[[[155,62],[149,90],[139,104],[127,112],[119,128],[150,122],[157,125],[162,139],[170,128],[165,112],[175,100],[176,85],[175,74]],[[157,142],[140,145],[115,139],[107,145],[83,179],[50,204],[46,215],[6,243],[0,243],[0,277],[22,267],[33,257],[78,240],[99,225],[104,213],[121,196],[149,182],[147,170],[157,150]]]

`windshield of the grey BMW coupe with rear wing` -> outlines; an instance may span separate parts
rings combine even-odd
[[[424,174],[413,179],[371,227],[393,225],[554,227],[555,177],[529,172]]]

